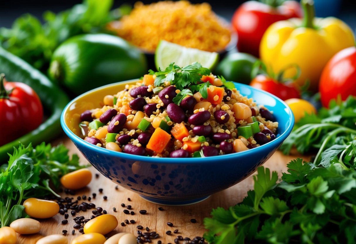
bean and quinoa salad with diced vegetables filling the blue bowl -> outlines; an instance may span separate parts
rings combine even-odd
[[[273,113],[199,63],[171,63],[84,111],[85,141],[151,157],[209,157],[259,147],[276,138]]]

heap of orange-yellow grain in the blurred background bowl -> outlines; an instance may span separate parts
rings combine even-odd
[[[209,52],[224,50],[230,42],[229,26],[211,10],[208,3],[161,1],[144,5],[136,2],[130,15],[109,28],[117,35],[148,52],[154,52],[161,39]]]

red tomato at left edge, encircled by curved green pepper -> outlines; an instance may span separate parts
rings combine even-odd
[[[43,108],[36,92],[25,83],[4,82],[0,77],[0,146],[36,129],[42,123]]]

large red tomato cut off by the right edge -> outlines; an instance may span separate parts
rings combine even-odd
[[[356,96],[356,47],[343,49],[329,60],[321,73],[319,91],[324,107],[338,96],[341,100]]]

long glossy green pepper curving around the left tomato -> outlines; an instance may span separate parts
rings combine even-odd
[[[12,154],[14,147],[20,145],[19,142],[25,146],[30,143],[37,145],[43,141],[48,142],[59,136],[59,134],[62,133],[60,123],[61,114],[64,107],[68,104],[69,98],[60,87],[51,83],[40,71],[1,47],[0,73],[5,73],[6,79],[9,81],[23,82],[31,86],[40,97],[45,113],[47,112],[49,115],[47,120],[37,129],[10,143],[2,145],[0,147],[0,162],[2,162],[8,158],[7,153]],[[24,121],[24,123],[26,123],[26,121]]]

